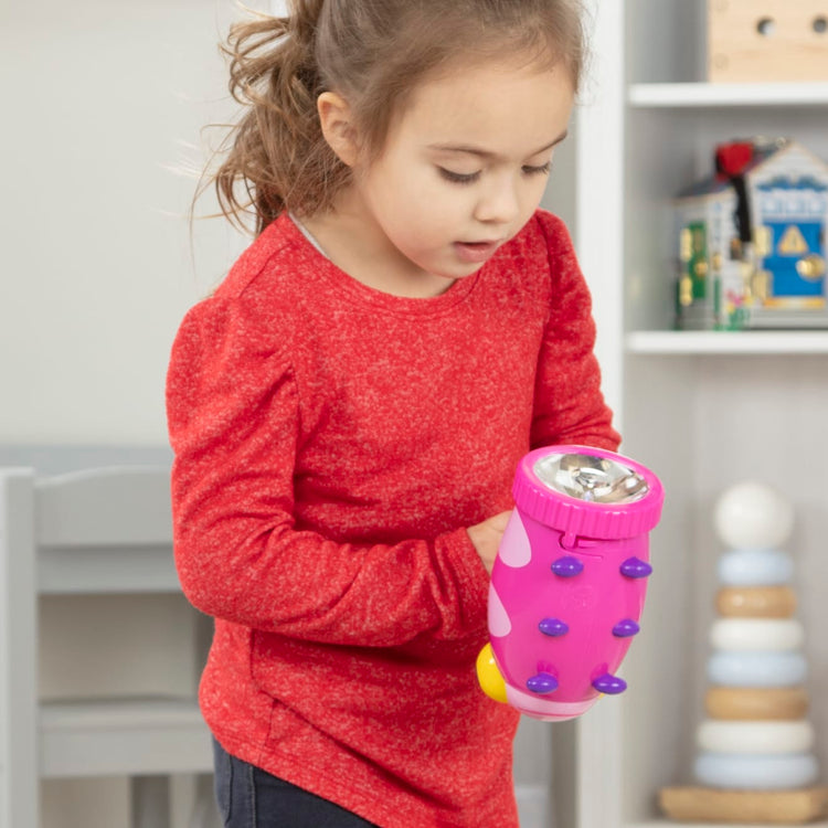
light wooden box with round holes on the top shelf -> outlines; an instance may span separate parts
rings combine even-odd
[[[828,81],[828,3],[708,0],[708,77]]]

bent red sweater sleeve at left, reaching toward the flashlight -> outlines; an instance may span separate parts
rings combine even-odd
[[[393,544],[297,530],[302,402],[284,337],[243,299],[183,321],[168,374],[176,561],[202,612],[326,644],[461,638],[485,618],[465,529]]]

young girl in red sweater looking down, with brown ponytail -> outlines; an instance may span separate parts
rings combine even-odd
[[[475,675],[513,471],[618,444],[538,210],[578,10],[294,0],[229,50],[248,108],[215,183],[257,236],[168,378],[225,825],[513,828],[518,715]]]

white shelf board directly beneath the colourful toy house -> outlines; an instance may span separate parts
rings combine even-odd
[[[627,353],[669,354],[821,354],[828,330],[797,331],[633,331]]]

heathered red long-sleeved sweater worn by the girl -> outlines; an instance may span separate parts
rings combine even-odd
[[[593,340],[540,211],[431,299],[359,284],[283,215],[188,314],[176,560],[215,617],[200,697],[227,751],[383,828],[517,826],[466,527],[511,508],[530,447],[617,447]]]

